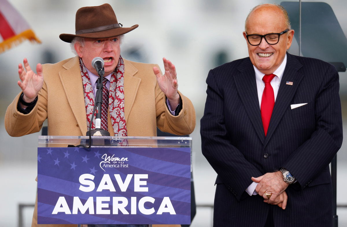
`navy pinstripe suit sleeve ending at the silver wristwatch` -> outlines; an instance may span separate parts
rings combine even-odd
[[[342,144],[339,75],[332,65],[314,100],[315,129],[283,164],[302,189],[326,169]]]

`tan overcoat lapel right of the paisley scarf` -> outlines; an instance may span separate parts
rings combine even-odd
[[[128,121],[129,113],[133,107],[137,90],[141,82],[141,78],[134,77],[137,68],[130,61],[124,60],[124,114],[125,121]]]

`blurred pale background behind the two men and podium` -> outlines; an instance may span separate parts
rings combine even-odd
[[[42,44],[28,41],[0,54],[0,227],[18,226],[18,204],[35,202],[37,136],[10,137],[4,128],[7,106],[20,92],[18,64],[27,58],[37,63],[55,63],[73,57],[70,46],[59,39],[61,33],[75,33],[75,13],[99,0],[9,0],[27,20]],[[333,62],[343,70],[347,65],[347,1],[277,1],[289,11],[295,39],[289,52]],[[1,3],[1,1],[0,1]],[[206,99],[205,79],[210,69],[248,56],[243,38],[248,12],[260,0],[109,0],[119,23],[139,24],[125,35],[122,57],[145,63],[171,60],[177,68],[179,90],[192,100],[196,110],[193,137],[193,177],[196,216],[192,227],[212,226],[214,180],[217,176],[201,154],[200,119]],[[339,72],[344,131],[347,123],[347,73]],[[346,143],[338,152],[337,210],[339,225],[347,226]],[[310,161],[310,160],[307,160]],[[322,208],[324,209],[324,208]],[[23,226],[30,226],[33,208],[23,209]]]

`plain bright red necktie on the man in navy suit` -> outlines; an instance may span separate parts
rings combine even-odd
[[[275,96],[273,94],[273,88],[270,84],[273,77],[275,76],[276,75],[274,74],[270,74],[270,75],[265,75],[263,77],[265,87],[263,91],[263,96],[261,98],[260,113],[261,113],[261,119],[263,121],[265,136],[266,136],[266,133],[268,132],[273,106],[275,105]]]

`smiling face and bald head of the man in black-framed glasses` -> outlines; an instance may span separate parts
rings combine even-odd
[[[294,30],[282,34],[279,42],[274,45],[268,44],[263,38],[259,45],[252,46],[248,43],[246,35],[281,33],[288,28],[287,26],[283,11],[277,6],[262,5],[249,14],[243,35],[247,42],[249,58],[260,72],[272,74],[281,65],[293,40]]]

